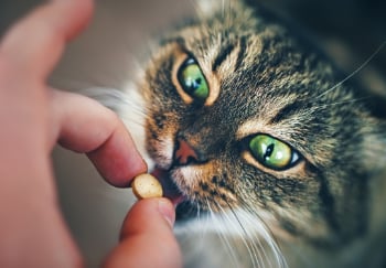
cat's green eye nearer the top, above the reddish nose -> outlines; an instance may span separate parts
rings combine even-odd
[[[192,98],[205,101],[210,88],[200,65],[194,58],[187,58],[179,69],[178,79],[182,89]]]

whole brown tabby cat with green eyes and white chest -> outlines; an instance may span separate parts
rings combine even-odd
[[[129,90],[92,93],[175,204],[185,267],[385,267],[385,120],[269,10],[199,10]]]

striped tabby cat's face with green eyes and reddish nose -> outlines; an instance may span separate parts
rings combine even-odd
[[[140,87],[147,150],[178,216],[247,213],[243,228],[264,219],[320,243],[363,232],[379,130],[341,78],[243,7],[165,39]]]

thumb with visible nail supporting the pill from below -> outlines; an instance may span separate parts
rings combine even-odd
[[[173,235],[174,207],[165,199],[141,200],[125,219],[120,244],[108,256],[105,267],[182,267]]]

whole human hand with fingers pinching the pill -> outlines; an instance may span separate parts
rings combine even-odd
[[[57,205],[50,152],[85,152],[111,184],[127,186],[146,164],[114,112],[51,89],[65,44],[87,24],[90,0],[56,0],[18,22],[0,43],[0,267],[77,267],[82,257]],[[179,267],[164,199],[138,202],[107,267]],[[154,261],[154,262],[150,262]]]

